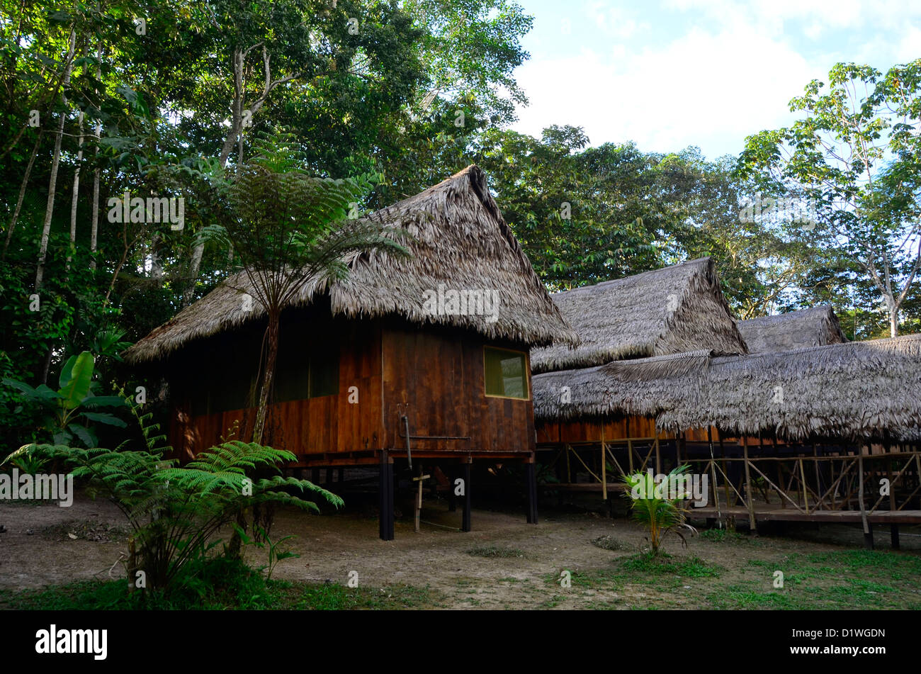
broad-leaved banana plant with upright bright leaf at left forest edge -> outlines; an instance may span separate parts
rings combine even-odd
[[[58,378],[58,389],[40,384],[32,388],[16,379],[3,379],[6,386],[17,389],[25,401],[32,402],[44,411],[41,427],[52,436],[55,445],[69,445],[76,436],[87,447],[99,443],[92,430],[92,424],[108,424],[124,428],[121,419],[111,413],[96,412],[99,408],[125,407],[127,403],[119,396],[99,396],[99,382],[93,381],[95,358],[84,351],[72,355],[64,363]],[[17,408],[17,413],[21,411]]]

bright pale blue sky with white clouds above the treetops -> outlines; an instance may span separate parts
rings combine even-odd
[[[838,62],[921,58],[921,0],[518,0],[534,17],[516,131],[582,126],[591,145],[737,155],[796,118],[789,100]]]

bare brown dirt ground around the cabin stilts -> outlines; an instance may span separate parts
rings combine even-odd
[[[642,607],[650,598],[661,605],[663,597],[672,608],[706,605],[702,578],[678,580],[667,587],[629,582],[576,587],[574,583],[577,591],[562,591],[557,578],[563,571],[591,577],[644,544],[643,530],[624,517],[568,510],[545,507],[540,524],[534,526],[525,522],[523,513],[474,509],[473,530],[463,533],[458,530],[460,510],[449,512],[444,501],[428,500],[421,533],[414,533],[412,519],[403,517],[396,522],[396,540],[386,542],[378,538],[378,521],[367,499],[363,506],[322,516],[284,511],[275,520],[272,538],[296,534],[288,549],[300,556],[279,563],[274,577],[346,585],[354,571],[362,587],[427,588],[436,606],[449,609],[629,608]],[[44,587],[124,575],[126,529],[122,514],[111,504],[94,502],[83,494],[68,508],[6,502],[0,504],[0,525],[6,528],[0,533],[0,587]],[[903,548],[913,551],[909,554],[921,550],[918,533],[917,528],[904,529]],[[604,549],[592,542],[600,537],[612,538],[613,547],[621,549]],[[880,548],[888,548],[888,530],[880,531],[877,540]],[[716,565],[723,586],[742,580],[751,583],[756,574],[755,585],[769,591],[770,560],[795,553],[859,549],[861,542],[858,529],[805,527],[741,544],[698,536],[686,550],[672,539],[667,550],[678,560],[699,557]],[[264,564],[264,552],[249,554],[253,564]],[[765,559],[768,562],[763,563]],[[917,598],[921,599],[921,591]]]

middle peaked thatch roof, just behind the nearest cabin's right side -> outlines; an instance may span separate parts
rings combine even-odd
[[[535,373],[699,349],[747,353],[710,258],[552,297],[581,344],[532,350]]]

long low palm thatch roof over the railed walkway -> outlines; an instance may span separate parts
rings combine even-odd
[[[765,354],[697,351],[533,378],[544,422],[641,415],[673,432],[716,426],[808,438],[921,439],[921,334]],[[567,389],[564,389],[567,387]]]

